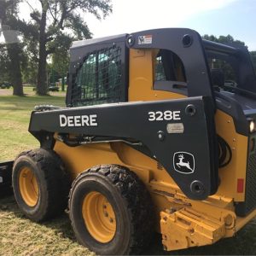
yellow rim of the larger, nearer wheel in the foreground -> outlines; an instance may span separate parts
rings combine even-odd
[[[106,243],[116,230],[115,214],[108,199],[93,191],[84,197],[82,213],[87,230],[96,241]]]

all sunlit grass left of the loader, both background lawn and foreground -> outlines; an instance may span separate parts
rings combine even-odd
[[[0,91],[0,160],[14,160],[21,151],[38,148],[38,141],[27,131],[36,105],[65,106],[63,93],[54,96],[10,96]],[[0,199],[0,255],[90,255],[73,236],[67,214],[48,223],[34,224],[22,216],[13,196]]]

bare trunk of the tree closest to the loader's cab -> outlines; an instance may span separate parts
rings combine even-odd
[[[38,86],[37,93],[40,96],[45,96],[48,94],[48,86],[46,79],[46,12],[47,10],[43,10],[42,18],[40,20],[40,36],[39,36],[39,61],[38,61]]]

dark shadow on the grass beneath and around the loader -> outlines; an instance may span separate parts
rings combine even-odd
[[[0,210],[13,212],[17,218],[26,218],[21,212],[13,195],[0,199]],[[44,222],[43,225],[63,238],[76,241],[67,213]],[[227,238],[206,247],[192,247],[185,250],[165,252],[161,244],[161,236],[154,234],[150,246],[143,255],[255,255],[256,253],[256,219],[247,224],[235,237]]]

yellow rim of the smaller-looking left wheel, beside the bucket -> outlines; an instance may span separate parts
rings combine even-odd
[[[38,181],[32,170],[24,167],[20,171],[19,188],[22,199],[29,207],[35,207],[38,203]]]

